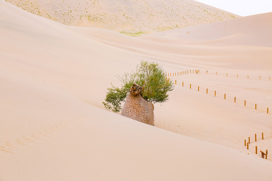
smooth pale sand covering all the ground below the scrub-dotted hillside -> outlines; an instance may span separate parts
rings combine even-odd
[[[0,0],[0,180],[271,180],[271,16],[129,37]],[[141,60],[200,70],[169,76],[155,127],[102,105]]]

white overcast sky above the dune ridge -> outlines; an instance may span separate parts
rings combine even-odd
[[[272,12],[272,0],[195,0],[221,10],[239,15],[250,16]]]

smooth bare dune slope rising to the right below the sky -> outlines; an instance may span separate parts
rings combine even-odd
[[[142,39],[181,45],[272,47],[271,18],[272,13],[265,13],[209,25],[154,33]]]

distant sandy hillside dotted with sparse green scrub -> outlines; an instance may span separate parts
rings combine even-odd
[[[239,17],[192,0],[7,0],[7,2],[65,25],[105,28],[132,36]]]

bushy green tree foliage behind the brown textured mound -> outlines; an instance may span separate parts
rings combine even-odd
[[[124,73],[117,78],[121,81],[121,88],[115,87],[111,84],[106,94],[104,106],[113,112],[121,110],[121,102],[125,101],[126,95],[129,92],[130,86],[137,83],[145,88],[141,92],[141,96],[153,103],[163,103],[168,100],[168,91],[172,91],[174,83],[172,80],[167,81],[165,72],[157,63],[142,61],[134,72]]]

